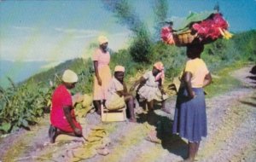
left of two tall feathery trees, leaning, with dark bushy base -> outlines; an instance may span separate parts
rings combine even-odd
[[[102,0],[105,7],[112,11],[118,18],[119,23],[127,26],[133,32],[133,41],[130,46],[130,54],[133,61],[148,62],[151,39],[147,26],[139,19],[135,9],[127,0]]]

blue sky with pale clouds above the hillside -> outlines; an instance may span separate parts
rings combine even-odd
[[[153,32],[154,0],[128,2]],[[212,10],[218,2],[230,24],[230,32],[256,29],[256,0],[167,2],[167,17],[174,25],[189,12]],[[113,13],[103,7],[101,0],[0,0],[1,61],[47,61],[44,67],[51,67],[61,61],[90,57],[94,50],[90,44],[96,43],[100,35],[108,37],[110,49],[125,49],[131,34],[127,26],[120,25]]]

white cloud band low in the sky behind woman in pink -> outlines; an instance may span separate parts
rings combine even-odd
[[[20,26],[16,26],[21,29]],[[26,29],[26,27],[24,27]],[[27,27],[27,29],[32,29]],[[14,32],[15,35],[1,39],[0,59],[9,61],[66,61],[73,58],[88,58],[94,49],[91,43],[102,34],[96,30],[78,30],[55,28],[57,34],[38,32],[36,35]],[[67,33],[72,33],[67,38]],[[109,48],[115,51],[127,47],[130,32],[104,33],[109,40]]]

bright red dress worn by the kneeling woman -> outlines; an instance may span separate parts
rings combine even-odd
[[[61,84],[59,85],[59,87],[56,88],[52,95],[50,123],[60,130],[73,132],[73,129],[67,122],[66,116],[64,114],[64,106],[72,106],[72,95],[68,92],[67,88]],[[74,109],[72,109],[71,111],[71,117],[73,119],[73,123],[75,124],[75,126],[82,130],[81,125],[79,124],[79,122],[77,122],[75,118]]]

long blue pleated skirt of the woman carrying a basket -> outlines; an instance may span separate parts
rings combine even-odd
[[[172,133],[186,138],[189,142],[200,142],[207,136],[207,113],[204,90],[193,88],[196,97],[189,99],[188,92],[181,88],[177,94]]]

